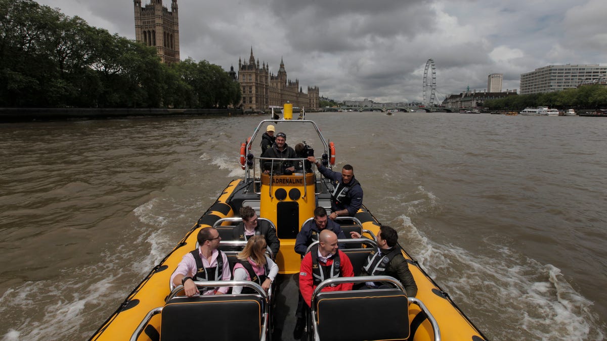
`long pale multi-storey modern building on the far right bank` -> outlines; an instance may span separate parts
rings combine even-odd
[[[520,93],[527,95],[555,92],[591,83],[594,79],[605,78],[605,76],[607,76],[607,66],[599,64],[549,65],[532,72],[521,73]]]

